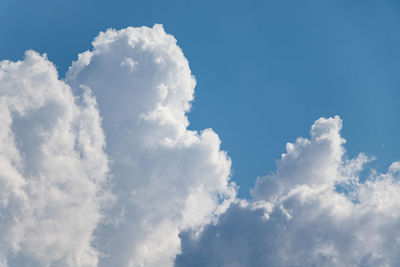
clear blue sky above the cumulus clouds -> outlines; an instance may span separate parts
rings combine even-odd
[[[321,116],[342,117],[349,156],[400,160],[399,1],[1,0],[0,59],[45,52],[63,77],[99,31],[154,23],[189,59],[191,128],[219,134],[240,196]]]

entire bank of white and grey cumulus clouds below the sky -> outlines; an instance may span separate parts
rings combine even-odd
[[[0,62],[0,266],[397,266],[400,162],[360,173],[339,117],[236,198],[195,79],[161,25],[107,30],[65,79]]]

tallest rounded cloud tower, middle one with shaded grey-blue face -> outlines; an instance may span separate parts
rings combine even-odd
[[[100,265],[171,266],[179,232],[210,222],[235,195],[218,136],[187,130],[195,79],[176,40],[161,25],[108,30],[67,81],[96,95],[112,159],[109,217],[119,219],[96,232]]]

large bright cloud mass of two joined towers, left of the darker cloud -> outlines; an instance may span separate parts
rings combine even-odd
[[[187,130],[194,87],[160,25],[100,33],[65,81],[3,61],[1,264],[172,266],[236,194],[218,136]]]

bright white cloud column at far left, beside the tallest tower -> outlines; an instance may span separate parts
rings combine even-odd
[[[77,105],[46,56],[28,51],[0,63],[0,109],[0,264],[96,265],[108,199],[96,102],[84,92]]]

